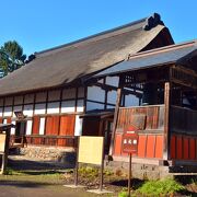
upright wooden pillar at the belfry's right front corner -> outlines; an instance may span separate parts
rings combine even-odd
[[[170,106],[171,106],[171,83],[164,84],[164,141],[163,141],[163,160],[170,158]]]

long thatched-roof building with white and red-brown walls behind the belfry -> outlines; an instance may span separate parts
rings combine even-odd
[[[127,62],[136,53],[172,44],[167,27],[154,13],[35,53],[24,67],[0,80],[0,121],[16,125],[12,128],[12,142],[23,138],[27,147],[73,147],[74,136],[80,135],[105,135],[109,144],[119,76],[91,83],[89,79]],[[123,90],[124,106],[136,102],[131,93],[132,90]]]

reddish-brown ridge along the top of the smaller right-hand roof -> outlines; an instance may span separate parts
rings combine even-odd
[[[190,45],[196,45],[197,46],[197,39],[192,39],[192,40],[188,40],[188,42],[183,42],[183,43],[173,44],[173,45],[169,45],[169,46],[164,46],[164,47],[159,47],[159,48],[154,48],[154,49],[151,49],[151,50],[146,50],[146,51],[137,53],[137,54],[130,54],[127,60],[129,60],[131,58],[136,58],[138,56],[146,56],[147,54],[152,55],[152,54],[157,54],[157,53],[160,53],[160,51],[165,51],[167,49],[172,50],[174,48],[184,48],[184,47],[187,47],[187,46],[190,46]]]

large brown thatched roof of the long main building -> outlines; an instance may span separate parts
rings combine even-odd
[[[26,66],[0,80],[0,95],[68,85],[94,74],[148,46],[165,31],[158,14],[151,18],[35,54]]]

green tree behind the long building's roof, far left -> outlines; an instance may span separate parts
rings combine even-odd
[[[15,40],[3,44],[0,48],[0,72],[1,77],[21,68],[26,59],[23,48]]]

